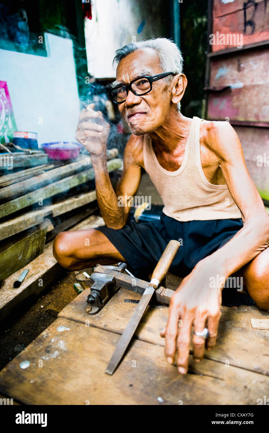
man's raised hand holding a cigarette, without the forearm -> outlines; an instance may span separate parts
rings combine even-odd
[[[92,156],[106,151],[110,125],[106,123],[101,111],[94,111],[94,104],[83,104],[79,115],[75,138]]]

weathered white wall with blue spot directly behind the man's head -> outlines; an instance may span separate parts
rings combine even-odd
[[[88,71],[96,78],[113,78],[115,51],[130,42],[165,36],[163,0],[91,0],[92,19],[85,21]],[[139,29],[145,21],[144,27]],[[138,33],[139,30],[139,33]]]

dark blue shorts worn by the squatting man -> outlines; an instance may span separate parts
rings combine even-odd
[[[102,232],[121,253],[132,274],[148,280],[148,273],[153,271],[171,239],[179,240],[181,246],[170,272],[185,277],[200,260],[221,248],[242,227],[241,218],[183,222],[161,213],[159,220],[150,223],[135,223],[128,218],[122,229],[115,230],[106,226],[95,229]],[[234,292],[233,289],[227,290]],[[238,294],[237,291],[236,294],[243,301],[243,294]],[[249,301],[250,304],[244,301],[244,305],[255,305],[251,298]]]

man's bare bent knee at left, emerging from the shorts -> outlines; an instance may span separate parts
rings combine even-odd
[[[71,270],[125,262],[115,246],[101,232],[85,229],[59,233],[54,239],[53,255],[60,265]]]

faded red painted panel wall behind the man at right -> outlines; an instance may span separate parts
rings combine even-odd
[[[219,45],[212,45],[213,52],[269,40],[269,1],[214,0],[212,33],[217,36],[217,32]],[[221,34],[225,35],[224,41]],[[226,36],[233,34],[237,38],[234,41]],[[221,42],[224,44],[220,45]],[[231,87],[222,93],[209,94],[208,119],[269,122],[268,48],[246,52],[238,48],[230,58],[211,57],[210,65],[210,87]],[[269,128],[234,126],[234,129],[250,176],[261,196],[269,200]]]

